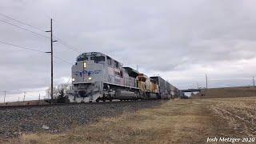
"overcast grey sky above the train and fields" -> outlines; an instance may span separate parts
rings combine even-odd
[[[256,71],[254,0],[1,0],[0,41],[42,51],[54,36],[81,52],[98,51],[152,76],[159,74],[180,89],[248,86]],[[4,22],[3,22],[4,21]],[[2,91],[41,90],[50,86],[50,55],[0,43]],[[54,84],[67,82],[78,52],[54,43]],[[0,102],[2,99],[0,98]]]

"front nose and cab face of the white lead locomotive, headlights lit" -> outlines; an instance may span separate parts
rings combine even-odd
[[[92,52],[78,56],[77,62],[72,66],[75,101],[91,102],[102,95],[102,78],[104,78],[105,66],[106,55],[104,54]]]

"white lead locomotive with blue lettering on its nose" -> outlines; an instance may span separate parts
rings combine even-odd
[[[137,84],[122,63],[106,54],[90,52],[80,54],[72,66],[72,86],[71,102],[98,102],[120,99],[127,88],[134,89]]]

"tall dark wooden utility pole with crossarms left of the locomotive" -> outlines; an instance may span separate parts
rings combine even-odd
[[[53,19],[50,19],[50,30],[47,30],[46,33],[50,32],[50,98],[51,102],[54,100],[54,41],[53,40]]]

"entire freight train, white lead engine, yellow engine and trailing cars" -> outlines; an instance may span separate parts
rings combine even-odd
[[[72,66],[70,102],[174,98],[182,92],[159,76],[147,77],[106,54],[80,54]]]

